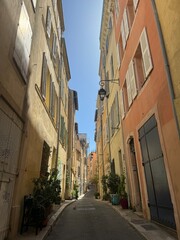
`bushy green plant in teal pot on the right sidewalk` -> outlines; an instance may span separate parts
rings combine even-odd
[[[118,174],[110,173],[107,179],[107,186],[111,196],[111,203],[113,205],[119,204],[118,186],[120,182],[120,177]]]

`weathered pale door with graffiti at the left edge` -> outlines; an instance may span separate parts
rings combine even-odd
[[[21,120],[0,98],[0,240],[9,231],[22,129]]]

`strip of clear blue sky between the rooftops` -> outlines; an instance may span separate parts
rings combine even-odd
[[[103,0],[62,0],[66,48],[71,72],[69,87],[78,92],[76,122],[95,150],[95,109],[99,89],[99,34]]]

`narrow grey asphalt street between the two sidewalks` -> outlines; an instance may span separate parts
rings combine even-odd
[[[110,205],[94,199],[90,190],[81,200],[69,205],[47,240],[142,240]]]

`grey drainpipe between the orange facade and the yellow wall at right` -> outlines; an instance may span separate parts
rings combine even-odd
[[[155,20],[156,20],[156,24],[157,24],[157,29],[158,29],[158,34],[159,34],[159,38],[160,38],[161,50],[162,50],[163,57],[164,57],[164,65],[165,65],[165,70],[166,70],[166,75],[167,75],[168,87],[169,87],[176,127],[178,130],[178,134],[180,134],[180,126],[178,124],[177,114],[176,114],[176,110],[175,110],[175,106],[174,106],[175,94],[174,94],[174,89],[173,89],[173,84],[172,84],[171,71],[170,71],[170,67],[169,67],[169,63],[168,63],[168,57],[167,57],[167,53],[166,53],[166,47],[165,47],[165,43],[164,43],[164,38],[163,38],[162,29],[161,29],[161,25],[160,25],[158,13],[157,13],[157,7],[156,7],[155,0],[152,0],[151,3],[152,3],[154,16],[155,16]]]

